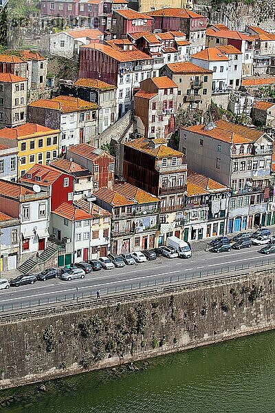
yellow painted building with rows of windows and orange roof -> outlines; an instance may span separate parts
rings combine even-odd
[[[50,129],[36,123],[0,129],[2,145],[10,146],[11,140],[17,140],[18,179],[34,164],[47,165],[58,157],[59,132],[59,129]]]

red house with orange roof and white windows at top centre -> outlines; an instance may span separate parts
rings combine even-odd
[[[118,9],[113,12],[112,30],[118,39],[128,33],[152,32],[153,17],[131,9]]]

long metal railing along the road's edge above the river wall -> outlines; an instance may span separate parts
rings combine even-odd
[[[163,288],[164,286],[178,286],[181,284],[188,284],[190,282],[201,282],[201,279],[209,276],[214,276],[214,278],[222,279],[229,273],[234,273],[232,277],[237,277],[240,274],[236,273],[236,271],[244,271],[244,270],[252,270],[256,268],[261,268],[263,266],[269,266],[271,264],[275,264],[275,256],[269,257],[267,260],[254,260],[248,261],[245,264],[237,263],[230,266],[225,266],[224,268],[213,268],[213,269],[201,269],[201,271],[193,271],[175,275],[169,275],[167,273],[166,277],[157,277],[157,275],[151,275],[151,278],[147,280],[140,281],[137,278],[136,282],[129,282],[129,284],[119,284],[118,281],[110,282],[109,286],[101,287],[100,284],[94,286],[94,288],[90,288],[87,290],[81,290],[81,287],[76,288],[75,292],[61,294],[61,295],[52,295],[51,297],[38,297],[36,299],[25,300],[14,302],[10,304],[2,304],[0,305],[0,313],[9,313],[14,310],[24,310],[27,308],[35,308],[41,306],[56,306],[56,304],[63,304],[63,303],[79,303],[84,301],[91,301],[96,300],[96,291],[100,288],[100,297],[107,298],[112,297],[114,295],[125,295],[129,293],[137,293],[144,291],[148,288],[155,288],[158,287],[159,289]],[[175,267],[178,268],[178,267]],[[179,270],[181,271],[181,270]],[[184,270],[183,270],[184,271]],[[177,269],[175,270],[177,272]],[[217,276],[217,277],[216,277]],[[98,279],[100,283],[100,278]],[[113,286],[111,284],[114,284]]]

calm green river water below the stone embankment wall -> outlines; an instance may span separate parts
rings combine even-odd
[[[3,413],[272,413],[275,331],[51,381]],[[29,389],[29,390],[28,390]],[[30,387],[14,390],[28,392]]]

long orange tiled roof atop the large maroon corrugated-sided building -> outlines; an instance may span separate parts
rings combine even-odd
[[[152,59],[151,56],[148,56],[148,54],[141,52],[141,50],[117,50],[114,47],[111,47],[109,45],[103,45],[102,43],[90,43],[89,45],[81,47],[88,47],[89,49],[98,50],[99,52],[102,52],[119,62],[131,62],[137,60]]]

